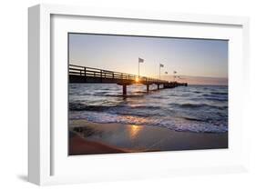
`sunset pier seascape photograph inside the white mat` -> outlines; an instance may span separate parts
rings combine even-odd
[[[67,37],[68,155],[228,148],[228,40]]]

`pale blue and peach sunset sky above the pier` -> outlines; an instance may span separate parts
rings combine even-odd
[[[173,80],[227,85],[228,41],[170,37],[69,34],[69,64]],[[168,75],[165,74],[168,72]],[[219,79],[220,80],[219,80]],[[213,79],[213,80],[211,80]],[[208,82],[207,82],[208,81]],[[184,81],[185,82],[185,81]]]

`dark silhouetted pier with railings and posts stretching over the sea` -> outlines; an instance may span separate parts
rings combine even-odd
[[[187,83],[179,83],[176,81],[169,82],[166,80],[159,80],[156,78],[146,76],[129,75],[125,73],[108,71],[80,65],[69,65],[68,70],[69,83],[102,83],[122,85],[123,95],[127,95],[128,85],[146,85],[147,92],[149,91],[149,85],[158,85],[158,89],[174,88],[180,85],[188,85]],[[162,88],[160,88],[160,85],[162,85]]]

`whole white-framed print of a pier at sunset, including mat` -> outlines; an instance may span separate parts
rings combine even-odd
[[[245,171],[248,25],[29,8],[29,181]]]

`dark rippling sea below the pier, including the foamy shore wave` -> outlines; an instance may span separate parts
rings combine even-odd
[[[228,132],[228,86],[69,84],[69,119],[100,124],[147,125],[191,133]]]

